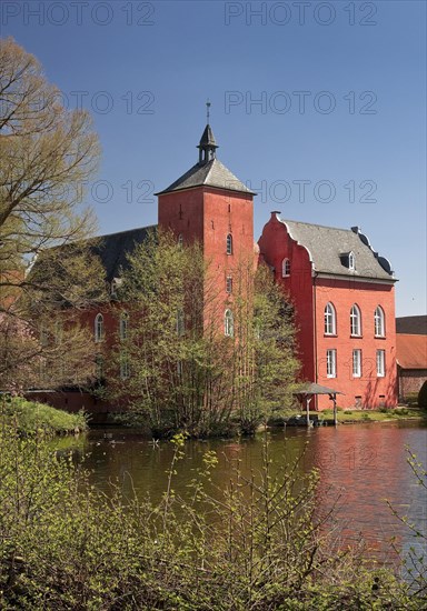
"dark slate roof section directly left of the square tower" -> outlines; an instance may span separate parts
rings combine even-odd
[[[108,282],[111,282],[113,278],[120,278],[120,270],[126,270],[129,267],[127,254],[131,253],[137,244],[143,242],[148,232],[156,230],[156,227],[140,227],[100,236],[97,239],[97,243],[91,247],[91,250],[101,259]]]

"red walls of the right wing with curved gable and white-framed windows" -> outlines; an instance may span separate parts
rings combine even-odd
[[[272,213],[259,240],[264,260],[274,268],[295,307],[298,327],[301,378],[344,392],[342,408],[371,409],[397,404],[395,294],[391,281],[363,280],[355,276],[330,277],[316,273],[310,252],[294,240],[286,224]],[[282,269],[289,261],[289,274]],[[284,277],[285,276],[285,277]],[[335,311],[335,329],[326,332],[325,309]],[[357,306],[360,332],[350,329],[350,311]],[[384,337],[375,334],[375,310],[384,312]],[[327,351],[335,351],[334,371],[328,373]],[[359,363],[355,363],[354,351]],[[383,355],[377,355],[384,351]],[[384,372],[380,370],[384,360]],[[378,368],[378,371],[377,371]],[[318,398],[318,409],[330,408],[327,397]]]

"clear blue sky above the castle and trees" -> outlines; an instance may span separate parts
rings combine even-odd
[[[282,218],[361,227],[426,313],[424,1],[2,0],[1,36],[42,63],[102,146],[100,233],[152,224],[197,160],[206,99],[218,158]]]

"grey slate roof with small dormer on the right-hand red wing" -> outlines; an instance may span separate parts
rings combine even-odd
[[[290,237],[309,251],[315,271],[396,281],[390,262],[374,251],[369,239],[358,228],[337,229],[290,220],[281,222]],[[348,269],[349,252],[355,256],[355,271]]]

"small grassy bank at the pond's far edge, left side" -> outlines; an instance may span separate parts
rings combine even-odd
[[[20,433],[44,433],[49,437],[82,432],[87,429],[83,413],[68,413],[44,403],[27,401],[21,397],[0,399],[3,422],[14,427]]]

